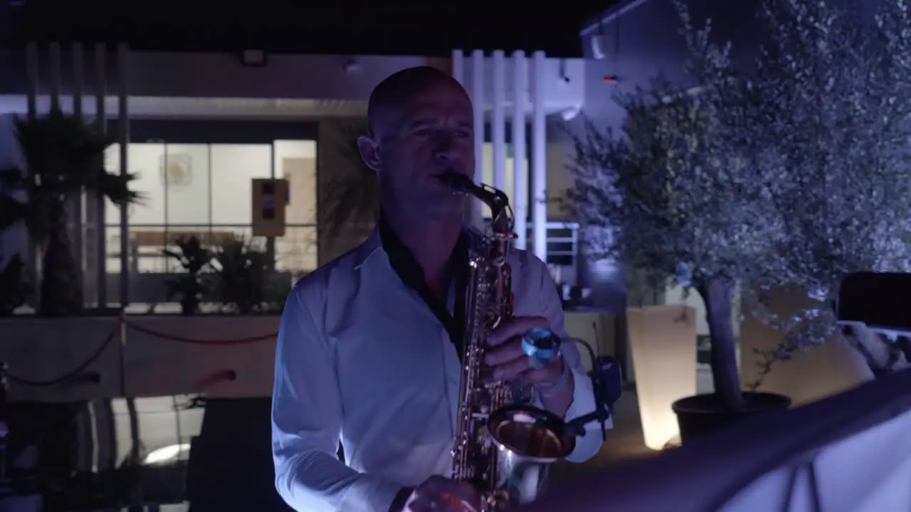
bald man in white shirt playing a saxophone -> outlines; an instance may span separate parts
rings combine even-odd
[[[454,482],[455,417],[464,333],[468,248],[464,200],[439,176],[474,178],[471,100],[433,67],[386,78],[370,97],[370,132],[358,139],[377,173],[382,214],[374,233],[298,282],[281,317],[272,395],[272,455],[281,497],[301,511],[400,512],[477,507]],[[538,406],[567,419],[594,410],[589,379],[570,344],[533,369],[520,336],[535,327],[566,336],[543,262],[512,251],[516,318],[488,342],[495,374],[534,386]],[[345,461],[336,456],[338,444]],[[579,439],[569,460],[599,449]]]

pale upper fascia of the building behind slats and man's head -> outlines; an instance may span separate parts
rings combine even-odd
[[[61,61],[70,62],[68,48]],[[471,48],[466,48],[470,53]],[[46,54],[40,56],[46,62]],[[0,51],[0,62],[7,62],[9,73],[25,75],[24,52]],[[91,55],[87,62],[93,62]],[[44,66],[44,63],[42,63]],[[233,53],[130,52],[128,91],[137,97],[216,97],[216,98],[305,98],[320,101],[365,101],[381,80],[407,67],[431,66],[445,72],[451,69],[448,57],[429,56],[344,56],[273,54],[265,67],[245,67]],[[508,68],[508,67],[507,67]],[[490,77],[493,59],[485,58],[487,85],[485,97],[489,107],[493,98]],[[466,70],[470,80],[471,70]],[[584,98],[585,64],[582,59],[548,58],[546,61],[545,109],[555,114],[567,108],[579,108]],[[117,68],[111,62],[108,83],[117,84]],[[91,87],[94,72],[89,72]],[[466,83],[471,83],[466,81]],[[507,69],[507,89],[513,84],[512,70]],[[24,112],[25,80],[10,82],[0,90],[0,108]],[[63,84],[67,93],[68,83]],[[40,90],[46,94],[46,90]],[[87,91],[88,92],[88,91]],[[512,93],[507,93],[511,97]],[[116,98],[111,98],[114,101]],[[530,103],[528,103],[530,105]],[[86,113],[94,113],[94,100],[85,102]],[[130,109],[133,115],[152,115]],[[44,110],[41,110],[44,111]],[[115,113],[115,108],[108,108]],[[348,115],[353,115],[349,113]]]

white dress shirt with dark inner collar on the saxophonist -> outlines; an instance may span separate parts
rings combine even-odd
[[[509,263],[515,314],[546,317],[565,337],[547,266],[526,251],[513,251]],[[573,419],[595,402],[576,347],[567,343],[563,353]],[[299,511],[387,512],[402,486],[449,476],[460,377],[443,324],[395,273],[374,230],[298,282],[281,316],[272,392],[279,494]],[[596,425],[568,460],[598,452]]]

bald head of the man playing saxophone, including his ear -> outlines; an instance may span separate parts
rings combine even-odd
[[[410,67],[374,88],[370,133],[358,139],[380,180],[384,210],[413,220],[460,219],[463,200],[437,178],[447,170],[474,177],[471,99],[434,67]]]

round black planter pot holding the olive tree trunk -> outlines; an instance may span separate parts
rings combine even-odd
[[[677,415],[681,443],[684,444],[744,417],[782,411],[790,406],[791,399],[783,394],[749,392],[743,393],[743,408],[736,412],[725,410],[721,398],[716,394],[687,396],[670,405]]]

